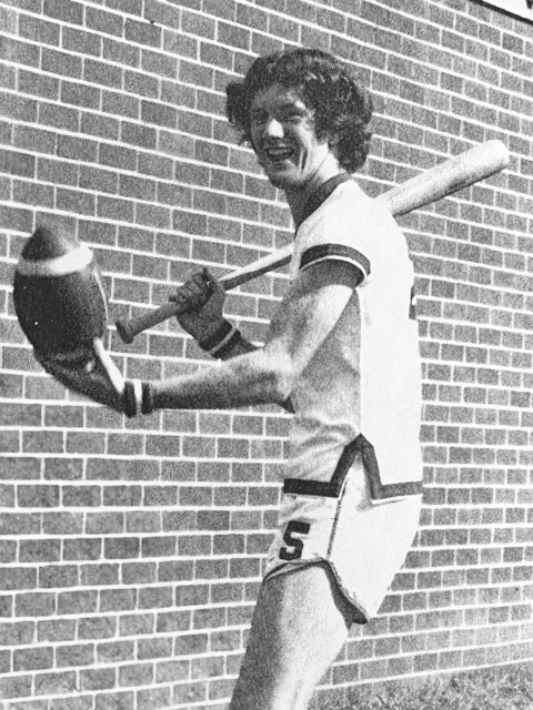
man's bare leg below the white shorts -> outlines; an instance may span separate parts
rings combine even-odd
[[[304,710],[346,640],[351,613],[326,565],[266,578],[230,710]]]

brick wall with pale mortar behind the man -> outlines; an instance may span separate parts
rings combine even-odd
[[[533,658],[533,34],[470,0],[0,0],[0,697],[10,710],[220,708],[276,519],[289,417],[142,420],[67,395],[14,318],[39,222],[87,242],[112,321],[291,239],[223,118],[223,88],[289,44],[353,63],[376,103],[378,194],[492,138],[507,171],[401,219],[416,266],[425,505],[380,615],[319,699]],[[261,342],[286,281],[228,313]],[[189,372],[175,323],[107,345],[129,377]]]

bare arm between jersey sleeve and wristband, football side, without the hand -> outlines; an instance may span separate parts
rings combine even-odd
[[[341,262],[335,263],[334,270],[328,263],[308,268],[278,308],[264,347],[192,375],[153,383],[154,408],[283,406],[352,293],[352,270]]]

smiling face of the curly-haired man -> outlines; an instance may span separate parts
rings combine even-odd
[[[274,83],[253,98],[250,134],[270,182],[288,196],[310,194],[339,172],[328,140],[316,136],[313,111],[295,89]]]

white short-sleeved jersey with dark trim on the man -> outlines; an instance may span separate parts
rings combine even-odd
[[[291,394],[284,489],[338,495],[359,453],[374,501],[420,494],[421,372],[408,245],[385,206],[353,180],[338,183],[296,231],[291,278],[318,262],[335,270],[342,261],[358,285]]]

